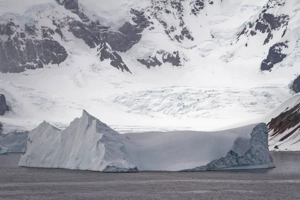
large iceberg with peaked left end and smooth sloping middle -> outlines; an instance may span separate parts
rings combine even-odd
[[[275,167],[265,123],[214,131],[120,134],[85,110],[60,130],[43,121],[27,136],[19,166],[103,172]]]

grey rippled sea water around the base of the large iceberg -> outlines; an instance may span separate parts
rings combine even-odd
[[[0,199],[300,199],[300,152],[272,152],[276,168],[102,173],[18,167],[0,156]]]

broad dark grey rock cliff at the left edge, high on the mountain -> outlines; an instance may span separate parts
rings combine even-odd
[[[18,73],[64,61],[66,50],[52,38],[56,31],[46,27],[38,30],[34,25],[26,25],[24,32],[12,21],[0,24],[0,35],[7,35],[6,39],[0,39],[0,72]],[[26,37],[26,34],[32,37]],[[34,39],[37,34],[41,34],[43,39]]]

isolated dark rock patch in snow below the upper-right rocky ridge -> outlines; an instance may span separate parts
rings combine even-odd
[[[261,62],[261,70],[271,70],[274,64],[281,62],[286,54],[282,53],[283,48],[288,47],[288,40],[285,42],[275,43],[269,48],[267,57]]]

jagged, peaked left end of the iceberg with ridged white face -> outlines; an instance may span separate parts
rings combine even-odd
[[[131,172],[123,136],[83,111],[60,130],[47,122],[29,132],[19,166]]]

